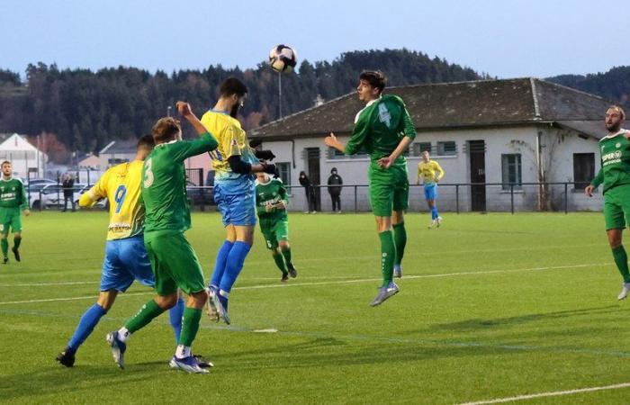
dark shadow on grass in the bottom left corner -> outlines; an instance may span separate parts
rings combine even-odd
[[[165,362],[161,364],[165,365]],[[78,365],[71,369],[50,365],[24,374],[3,375],[0,379],[0,398],[2,401],[19,400],[28,403],[31,397],[38,399],[41,395],[68,393],[67,397],[72,397],[73,402],[78,400],[90,403],[92,394],[99,390],[127,387],[131,392],[138,383],[155,378],[155,365],[133,368],[133,373],[127,373],[115,365]],[[167,369],[166,364],[165,370]]]

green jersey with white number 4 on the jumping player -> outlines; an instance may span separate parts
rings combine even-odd
[[[373,100],[356,114],[355,129],[346,144],[344,152],[354,155],[365,150],[373,166],[381,157],[387,157],[398,147],[404,137],[416,138],[416,128],[411,121],[410,113],[401,97],[386,94]],[[399,157],[396,164],[406,163]]]

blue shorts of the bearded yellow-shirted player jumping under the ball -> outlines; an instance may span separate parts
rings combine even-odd
[[[223,226],[256,225],[256,184],[250,177],[214,184],[214,202],[219,208]]]

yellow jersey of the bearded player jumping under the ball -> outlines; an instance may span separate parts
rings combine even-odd
[[[231,156],[240,156],[243,161],[250,164],[258,163],[254,150],[249,147],[245,130],[240,127],[237,119],[225,112],[210,110],[203,114],[202,124],[219,141],[219,147],[208,152],[215,170],[215,181],[243,176],[229,168],[228,158]]]

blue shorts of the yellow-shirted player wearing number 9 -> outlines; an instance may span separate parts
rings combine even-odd
[[[124,293],[133,280],[148,287],[156,284],[143,236],[108,240],[105,244],[101,291],[117,290]]]

